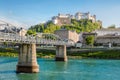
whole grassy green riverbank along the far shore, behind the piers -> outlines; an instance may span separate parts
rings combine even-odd
[[[37,49],[38,58],[54,58],[55,50]],[[0,56],[17,57],[18,49],[0,48]],[[68,58],[81,59],[81,58],[94,58],[94,59],[120,59],[120,49],[104,49],[104,50],[78,50],[67,51]]]

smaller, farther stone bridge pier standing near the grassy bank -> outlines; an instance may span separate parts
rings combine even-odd
[[[56,61],[67,61],[66,55],[66,45],[57,45],[56,46]]]

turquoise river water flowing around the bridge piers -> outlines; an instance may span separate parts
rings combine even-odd
[[[16,74],[17,58],[0,57],[0,80],[120,80],[120,60],[38,59],[40,72]]]

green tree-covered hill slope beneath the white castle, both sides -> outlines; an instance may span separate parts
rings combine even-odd
[[[51,21],[46,24],[38,24],[31,26],[29,30],[35,31],[35,32],[44,32],[44,33],[54,33],[55,30],[59,30],[61,28],[67,29],[67,30],[76,30],[79,32],[91,32],[95,29],[101,28],[101,24],[99,22],[93,23],[91,20],[83,19],[83,20],[71,20],[71,24],[69,25],[55,25]]]

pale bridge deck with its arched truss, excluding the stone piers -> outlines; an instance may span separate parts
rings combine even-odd
[[[70,45],[73,46],[73,42],[66,42],[55,34],[41,33],[40,36],[19,36],[18,34],[13,33],[0,33],[0,42],[9,42],[9,43],[24,43],[24,44],[51,44],[51,45]]]

